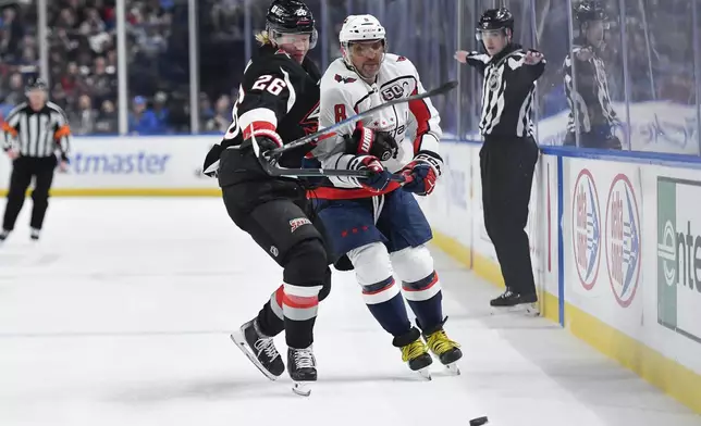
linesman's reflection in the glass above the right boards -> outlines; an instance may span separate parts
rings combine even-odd
[[[608,28],[606,11],[598,1],[585,1],[575,9],[575,20],[579,24],[579,37],[563,64],[569,104],[564,145],[576,145],[576,134],[579,134],[580,147],[622,149],[620,139],[613,133],[618,117],[611,103],[601,58]]]

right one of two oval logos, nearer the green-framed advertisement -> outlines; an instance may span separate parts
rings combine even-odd
[[[640,214],[628,177],[617,175],[606,205],[606,266],[611,288],[623,308],[636,296],[640,276]]]

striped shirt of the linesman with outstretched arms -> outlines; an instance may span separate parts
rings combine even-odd
[[[532,103],[536,80],[545,71],[545,60],[525,63],[526,52],[509,45],[493,58],[471,52],[467,63],[484,76],[479,129],[484,136],[533,135]]]

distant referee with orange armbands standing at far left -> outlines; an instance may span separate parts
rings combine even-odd
[[[44,217],[49,206],[49,189],[57,165],[65,172],[69,165],[71,129],[63,110],[47,100],[47,85],[40,78],[26,87],[27,102],[17,105],[2,123],[3,149],[12,160],[10,190],[0,231],[0,241],[14,229],[24,204],[27,188],[35,179],[32,191],[30,237],[39,239]],[[60,161],[56,152],[60,151]]]

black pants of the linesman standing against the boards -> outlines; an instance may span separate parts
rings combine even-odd
[[[538,146],[532,138],[488,136],[480,150],[484,227],[506,287],[536,291],[526,224]]]

